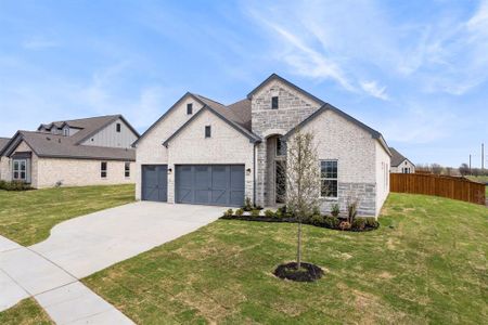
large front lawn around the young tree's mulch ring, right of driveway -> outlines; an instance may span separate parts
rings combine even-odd
[[[278,280],[296,225],[219,220],[84,280],[138,324],[481,324],[488,209],[391,194],[380,230],[306,225],[304,259],[326,274]]]

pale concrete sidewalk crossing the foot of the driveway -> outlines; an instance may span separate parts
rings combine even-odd
[[[62,268],[0,236],[0,310],[28,297],[56,324],[133,324]]]

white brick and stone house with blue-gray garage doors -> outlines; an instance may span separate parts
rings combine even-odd
[[[382,134],[274,74],[231,105],[190,92],[178,100],[134,143],[137,199],[277,206],[285,140],[297,129],[316,134],[322,211],[358,198],[361,214],[377,216],[389,193]]]

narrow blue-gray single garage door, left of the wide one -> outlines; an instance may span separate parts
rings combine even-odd
[[[142,199],[168,200],[168,166],[143,165],[142,166]]]

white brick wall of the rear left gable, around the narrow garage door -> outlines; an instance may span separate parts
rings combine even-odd
[[[187,115],[188,103],[193,104],[192,115]],[[193,96],[187,95],[163,120],[138,142],[136,151],[136,199],[141,199],[141,165],[167,164],[168,153],[166,147],[163,146],[163,142],[196,114],[202,106]]]

